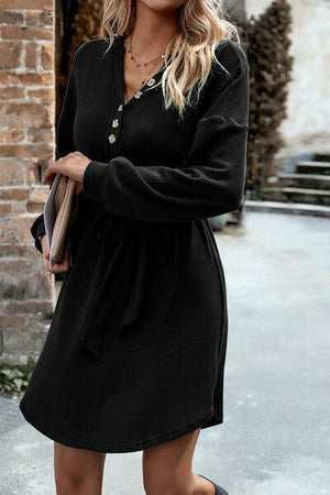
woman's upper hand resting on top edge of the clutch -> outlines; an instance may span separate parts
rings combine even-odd
[[[84,174],[89,162],[91,160],[78,151],[68,153],[62,160],[56,160],[56,162],[47,166],[43,182],[44,184],[50,184],[50,187],[52,187],[55,174],[59,172],[67,177],[72,177],[77,183],[82,184]]]

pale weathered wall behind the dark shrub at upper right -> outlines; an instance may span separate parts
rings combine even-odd
[[[270,0],[246,0],[248,18]],[[289,85],[288,117],[282,124],[286,146],[279,156],[330,152],[330,2],[289,0],[293,9],[290,53],[295,57]]]

